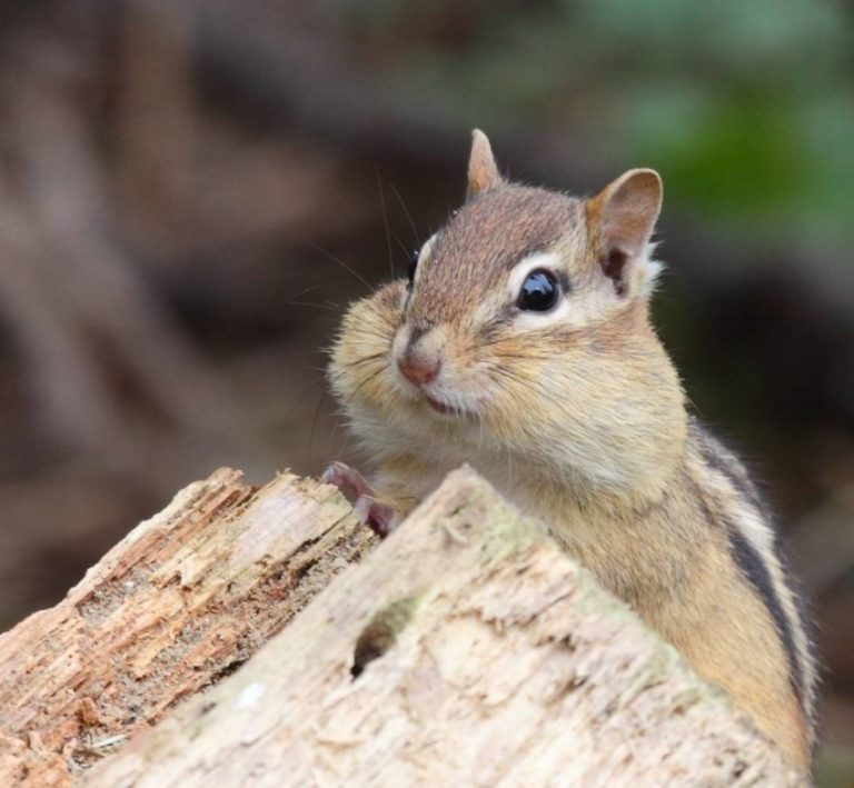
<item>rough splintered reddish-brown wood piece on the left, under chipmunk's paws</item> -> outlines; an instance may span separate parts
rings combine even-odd
[[[0,636],[0,785],[64,786],[231,672],[376,541],[338,491],[222,469]]]

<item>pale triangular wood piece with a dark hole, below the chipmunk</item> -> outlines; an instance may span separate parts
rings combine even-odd
[[[791,786],[723,692],[473,471],[83,779]]]

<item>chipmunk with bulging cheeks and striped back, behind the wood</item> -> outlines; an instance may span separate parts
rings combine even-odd
[[[507,182],[475,130],[464,206],[332,348],[377,471],[324,478],[386,533],[470,463],[807,772],[816,668],[769,516],[649,321],[661,206],[648,169],[590,199]]]

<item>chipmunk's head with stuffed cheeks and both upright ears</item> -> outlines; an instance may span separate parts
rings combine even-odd
[[[675,461],[682,390],[647,319],[661,203],[653,170],[587,200],[509,183],[475,131],[465,203],[406,281],[351,307],[334,351],[369,451],[510,451],[613,491]]]

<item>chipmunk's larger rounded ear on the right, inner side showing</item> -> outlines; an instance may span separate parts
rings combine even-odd
[[[662,179],[655,170],[629,170],[585,203],[603,273],[618,296],[648,292],[658,263],[649,239],[662,210]]]

